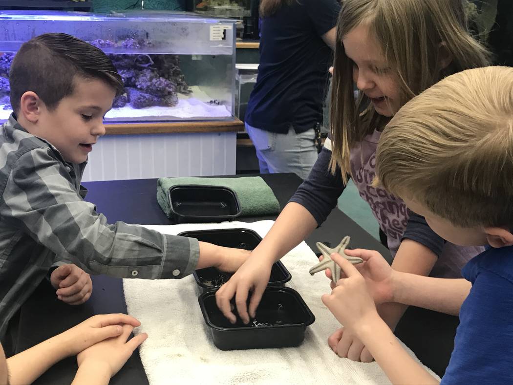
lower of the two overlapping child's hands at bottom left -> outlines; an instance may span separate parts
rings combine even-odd
[[[133,351],[148,337],[141,333],[128,340],[133,331],[133,325],[123,325],[123,333],[117,337],[106,339],[78,353],[76,362],[79,371],[88,368],[98,374],[112,377],[123,367]]]

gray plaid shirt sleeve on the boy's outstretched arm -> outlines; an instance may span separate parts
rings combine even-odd
[[[0,205],[12,222],[57,256],[90,273],[118,278],[182,278],[199,258],[195,239],[124,222],[107,223],[77,194],[64,164],[48,148],[14,161]]]

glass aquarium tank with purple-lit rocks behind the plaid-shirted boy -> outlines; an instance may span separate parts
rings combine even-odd
[[[106,123],[232,120],[234,23],[166,11],[0,11],[0,121],[11,112],[8,73],[15,52],[48,32],[102,49],[121,74],[125,92]]]

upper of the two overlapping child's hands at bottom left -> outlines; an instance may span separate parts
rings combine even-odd
[[[65,356],[69,357],[107,338],[122,335],[122,325],[125,324],[133,329],[141,325],[141,322],[127,314],[100,314],[86,319],[55,338],[63,344]]]

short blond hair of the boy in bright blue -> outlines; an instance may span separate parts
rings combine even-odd
[[[406,103],[376,164],[387,191],[455,225],[513,225],[513,68],[466,70]]]

